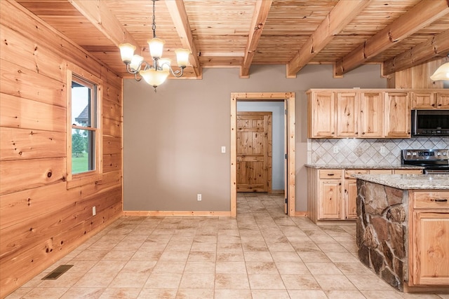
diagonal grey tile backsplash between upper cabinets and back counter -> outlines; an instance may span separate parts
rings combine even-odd
[[[307,139],[307,163],[316,165],[400,165],[401,150],[406,148],[449,148],[449,137]]]

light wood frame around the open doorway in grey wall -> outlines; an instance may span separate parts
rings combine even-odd
[[[237,216],[237,101],[273,101],[282,100],[287,103],[287,177],[288,216],[295,216],[295,92],[232,92],[231,93],[231,216]]]

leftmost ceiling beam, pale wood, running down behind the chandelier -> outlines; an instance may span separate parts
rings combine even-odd
[[[112,41],[115,46],[120,43],[130,43],[137,46],[136,54],[141,55],[137,41],[131,36],[121,25],[119,20],[109,11],[103,0],[97,1],[83,1],[83,0],[67,0],[77,11],[89,20],[102,34],[106,36],[109,41]],[[119,51],[119,48],[117,48]]]

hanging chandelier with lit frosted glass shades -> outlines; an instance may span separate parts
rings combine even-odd
[[[126,71],[129,74],[135,75],[135,81],[140,81],[142,78],[149,85],[152,85],[154,92],[156,88],[161,85],[170,73],[179,78],[184,74],[184,69],[189,64],[190,51],[186,49],[177,49],[176,60],[179,70],[173,71],[171,62],[168,58],[161,58],[163,51],[163,39],[156,37],[156,22],[154,12],[156,11],[156,0],[153,1],[153,38],[147,41],[149,47],[149,54],[152,56],[152,62],[146,62],[140,55],[134,55],[135,46],[130,43],[121,43],[119,45],[121,60],[126,64]]]

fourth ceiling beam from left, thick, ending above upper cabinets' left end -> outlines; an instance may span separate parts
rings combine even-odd
[[[370,1],[341,0],[321,22],[315,32],[297,51],[287,64],[287,78],[296,78],[296,74],[309,63],[332,39],[351,22]]]

